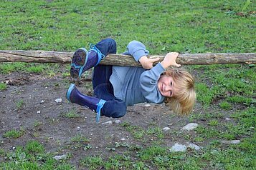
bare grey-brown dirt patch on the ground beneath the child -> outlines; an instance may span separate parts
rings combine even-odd
[[[0,74],[0,81],[9,84],[6,90],[0,91],[0,145],[5,151],[10,151],[16,146],[24,146],[29,140],[37,140],[44,145],[47,152],[56,155],[71,154],[70,163],[79,168],[78,162],[85,156],[98,155],[108,158],[113,154],[122,154],[124,151],[122,147],[111,151],[117,142],[143,148],[152,144],[171,148],[175,143],[186,144],[188,141],[184,136],[187,134],[194,136],[196,133],[181,132],[181,128],[189,123],[189,119],[176,116],[164,104],[137,104],[128,107],[127,114],[120,119],[101,116],[100,123],[96,124],[93,111],[70,104],[65,99],[71,81],[61,73],[48,77],[41,74],[13,72],[8,75]],[[78,89],[84,94],[90,94],[90,81],[84,79],[78,85]],[[62,99],[62,102],[57,103],[55,99]],[[196,106],[196,108],[195,112],[199,113],[201,107]],[[72,110],[78,114],[77,117],[65,116]],[[113,124],[103,124],[110,120]],[[116,120],[120,123],[115,123]],[[204,121],[195,123],[204,124]],[[163,131],[164,136],[161,139],[157,134],[144,134],[136,138],[123,126],[125,123],[145,131],[153,127],[160,129],[169,127],[170,130]],[[22,129],[24,134],[17,139],[4,138],[3,134],[11,129]],[[88,141],[82,143],[82,146],[75,144],[72,138],[77,134],[85,136]],[[202,142],[199,145],[205,144]],[[1,159],[0,161],[3,161]]]

